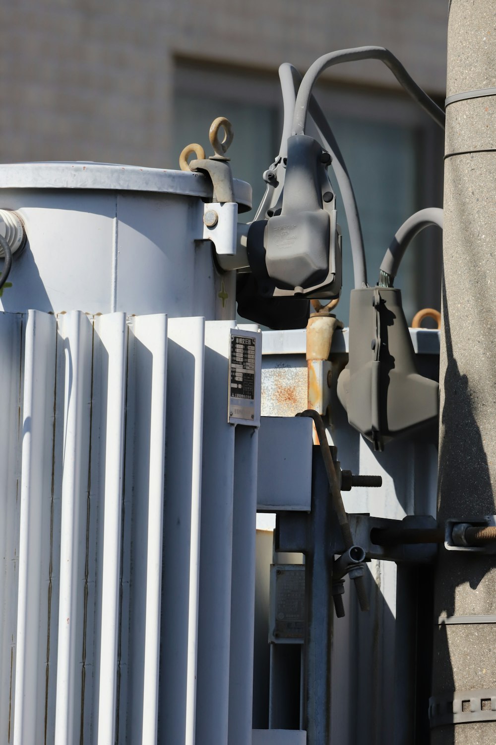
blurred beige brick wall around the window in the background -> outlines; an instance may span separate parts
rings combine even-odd
[[[0,160],[162,165],[175,56],[276,72],[326,51],[389,47],[444,95],[447,0],[6,0],[0,8]],[[394,86],[380,63],[335,80]]]

